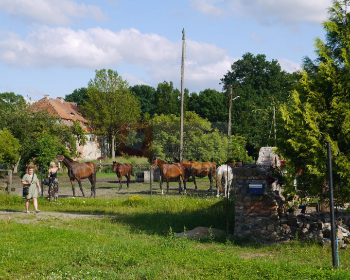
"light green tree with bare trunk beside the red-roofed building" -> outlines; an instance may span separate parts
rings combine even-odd
[[[83,110],[91,124],[109,136],[114,159],[117,134],[140,118],[139,102],[129,90],[129,84],[117,71],[96,70],[94,80],[88,83],[88,102],[84,103]],[[118,139],[126,141],[126,138]]]

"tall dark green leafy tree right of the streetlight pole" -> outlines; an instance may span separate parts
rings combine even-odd
[[[294,76],[282,71],[277,60],[245,53],[231,65],[221,79],[225,87],[235,86],[232,92],[240,98],[232,103],[231,128],[233,134],[247,139],[247,149],[257,158],[269,140],[273,107],[284,102],[294,84]],[[228,88],[224,88],[229,92]]]

